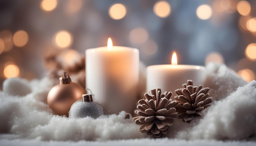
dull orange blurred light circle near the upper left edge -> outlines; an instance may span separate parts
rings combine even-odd
[[[25,46],[29,41],[29,35],[24,30],[18,30],[13,35],[13,44],[15,46]]]

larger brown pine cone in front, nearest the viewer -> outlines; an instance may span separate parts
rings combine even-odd
[[[147,133],[148,136],[154,135],[160,137],[162,134],[168,133],[168,127],[174,123],[173,118],[177,118],[176,109],[174,108],[178,102],[170,100],[172,93],[165,92],[161,94],[161,89],[151,90],[152,95],[145,93],[146,99],[138,101],[135,113],[140,115],[134,117],[133,120],[138,125],[141,133]]]

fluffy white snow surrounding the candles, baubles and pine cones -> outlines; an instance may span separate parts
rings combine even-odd
[[[49,78],[7,79],[0,91],[0,145],[255,146],[256,81],[248,84],[224,64],[211,63],[206,69],[204,86],[211,88],[215,101],[200,120],[187,124],[177,119],[161,139],[140,133],[125,111],[97,119],[54,115],[46,104],[54,86]]]

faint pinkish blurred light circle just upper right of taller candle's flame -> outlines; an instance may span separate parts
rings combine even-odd
[[[138,27],[130,32],[129,38],[134,44],[142,44],[148,40],[148,31],[142,27]]]

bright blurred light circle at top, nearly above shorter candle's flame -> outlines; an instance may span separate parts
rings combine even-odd
[[[158,17],[165,18],[171,13],[171,6],[166,1],[159,1],[155,3],[153,11]]]

